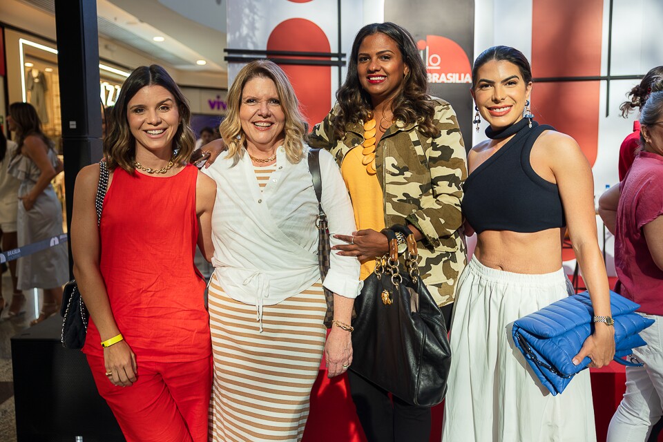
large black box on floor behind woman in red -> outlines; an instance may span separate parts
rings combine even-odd
[[[17,442],[124,441],[85,355],[60,343],[53,316],[12,338]]]

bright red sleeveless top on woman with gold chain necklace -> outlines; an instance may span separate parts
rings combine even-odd
[[[172,177],[113,171],[99,227],[113,317],[137,361],[197,361],[211,355],[205,282],[193,264],[198,240],[188,165]],[[90,318],[83,352],[103,356]]]

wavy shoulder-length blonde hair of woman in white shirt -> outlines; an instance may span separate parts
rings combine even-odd
[[[251,61],[244,66],[228,91],[228,113],[219,126],[219,132],[228,146],[227,158],[232,158],[233,164],[237,164],[244,155],[243,147],[247,140],[240,120],[242,92],[247,82],[256,77],[269,78],[276,85],[278,99],[285,113],[285,155],[289,162],[297,164],[304,157],[309,125],[299,111],[299,102],[288,77],[269,60]]]

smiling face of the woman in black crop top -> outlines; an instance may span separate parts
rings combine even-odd
[[[490,60],[477,70],[475,84],[471,90],[474,103],[492,128],[505,128],[522,119],[532,83],[523,80],[518,66]]]

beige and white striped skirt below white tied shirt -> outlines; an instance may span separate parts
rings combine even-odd
[[[325,348],[326,310],[323,287],[316,282],[277,305],[265,305],[260,332],[256,306],[227,296],[212,276],[210,441],[302,439]]]

